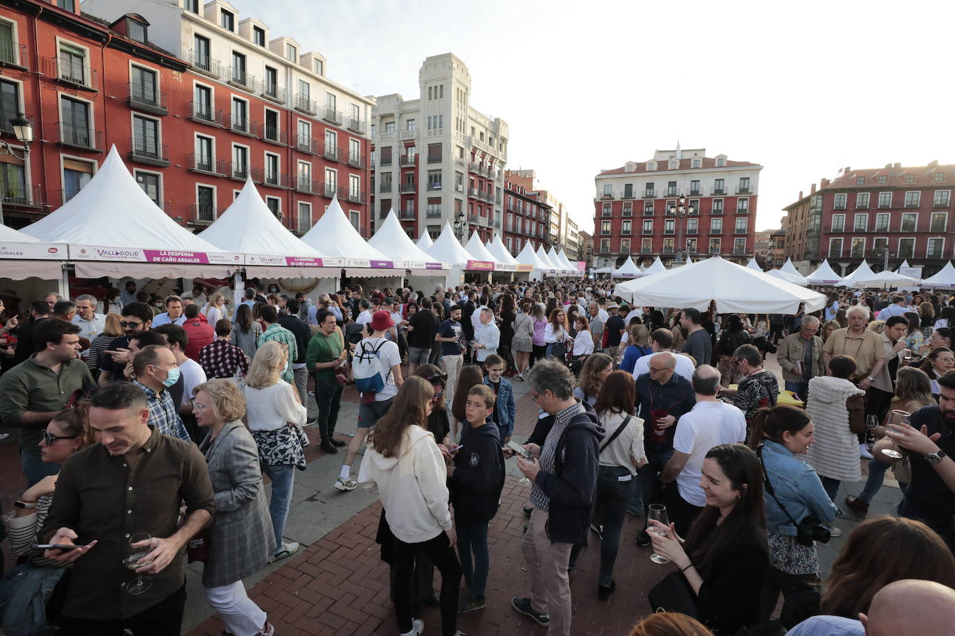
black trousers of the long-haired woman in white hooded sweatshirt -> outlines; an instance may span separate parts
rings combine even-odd
[[[414,570],[414,555],[423,550],[437,571],[441,573],[441,633],[454,634],[457,631],[457,595],[461,585],[461,564],[448,535],[442,532],[434,539],[420,544],[406,544],[394,539],[394,580],[410,581]],[[398,631],[406,633],[412,630],[412,590],[411,585],[398,585],[394,591],[394,613],[398,619]]]

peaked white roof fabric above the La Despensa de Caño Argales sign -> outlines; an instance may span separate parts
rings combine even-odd
[[[236,228],[233,228],[234,230]],[[116,146],[89,183],[25,234],[51,243],[131,250],[219,252],[159,209],[123,165]]]

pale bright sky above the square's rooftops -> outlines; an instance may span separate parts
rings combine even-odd
[[[677,140],[764,166],[757,230],[845,166],[955,163],[950,1],[231,3],[362,94],[413,99],[424,59],[454,52],[471,106],[510,127],[508,167],[582,230],[596,174]]]

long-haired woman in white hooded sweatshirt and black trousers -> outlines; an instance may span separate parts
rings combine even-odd
[[[411,578],[414,553],[421,549],[441,573],[441,634],[457,632],[457,595],[461,565],[457,537],[448,510],[447,468],[428,416],[435,390],[428,380],[405,380],[388,412],[368,438],[358,482],[375,485],[394,535],[394,612],[402,636],[415,636],[424,623],[413,619]],[[409,585],[405,585],[405,583]]]

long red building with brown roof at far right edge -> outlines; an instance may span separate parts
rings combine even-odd
[[[845,168],[786,206],[785,256],[809,272],[824,259],[837,273],[867,259],[879,271],[902,260],[938,272],[955,252],[955,165]]]

